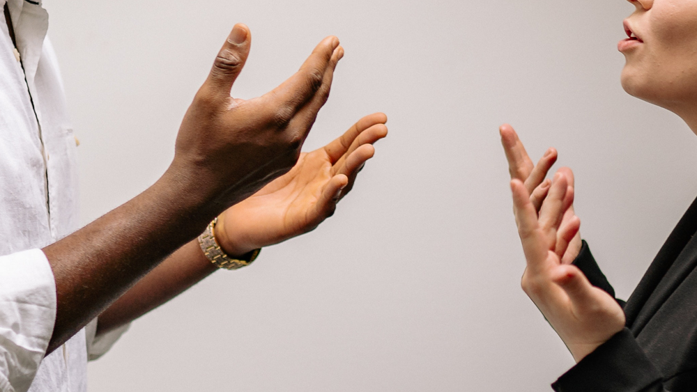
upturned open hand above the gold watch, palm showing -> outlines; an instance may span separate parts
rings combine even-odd
[[[307,233],[330,217],[356,175],[387,136],[387,116],[360,119],[339,139],[303,153],[291,171],[218,218],[215,237],[231,256]]]

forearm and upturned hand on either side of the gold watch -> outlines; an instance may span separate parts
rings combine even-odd
[[[242,256],[321,224],[373,156],[372,144],[387,135],[386,121],[383,113],[365,116],[327,146],[300,155],[289,173],[221,214],[215,236],[224,251]],[[97,334],[135,320],[218,270],[196,240],[186,244],[99,315]]]

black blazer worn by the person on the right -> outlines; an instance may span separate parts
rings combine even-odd
[[[627,326],[562,375],[558,392],[697,391],[697,200],[625,304]],[[574,264],[615,297],[588,244]]]

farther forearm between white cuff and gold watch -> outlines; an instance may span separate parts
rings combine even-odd
[[[148,313],[217,269],[204,256],[197,240],[188,242],[99,315],[97,335],[112,331]]]

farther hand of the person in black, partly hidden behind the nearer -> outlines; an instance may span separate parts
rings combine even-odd
[[[511,179],[523,182],[528,194],[530,194],[530,202],[533,203],[535,210],[539,212],[542,201],[544,201],[547,192],[549,192],[551,180],[545,180],[545,178],[549,169],[557,161],[557,150],[549,148],[544,156],[539,159],[537,165],[535,165],[528,156],[525,147],[523,147],[523,143],[519,139],[518,134],[516,134],[510,125],[501,125],[499,132],[501,134],[503,150],[508,160],[508,169]],[[574,173],[568,168],[560,169],[560,173],[565,175],[567,184],[569,187],[573,188]],[[562,256],[562,263],[564,264],[571,264],[574,262],[576,256],[579,256],[582,246],[581,233],[578,230],[576,230],[576,235],[574,235],[571,240],[564,240],[568,237],[568,233],[566,233],[567,230],[572,228],[572,226],[569,226],[569,223],[573,217],[574,205],[572,204],[565,211],[565,217],[560,227],[560,241],[567,242],[567,246],[565,246],[567,251]]]

